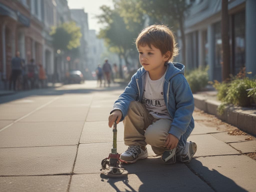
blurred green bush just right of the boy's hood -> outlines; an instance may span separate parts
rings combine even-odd
[[[190,89],[193,93],[200,91],[208,84],[208,67],[192,70],[186,75]]]

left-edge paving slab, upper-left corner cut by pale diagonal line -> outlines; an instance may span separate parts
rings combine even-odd
[[[15,123],[0,134],[0,148],[78,145],[83,121]]]

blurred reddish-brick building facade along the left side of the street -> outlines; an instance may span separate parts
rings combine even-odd
[[[0,89],[7,89],[11,60],[20,52],[25,65],[30,59],[53,73],[54,50],[49,32],[54,23],[54,0],[0,0]]]

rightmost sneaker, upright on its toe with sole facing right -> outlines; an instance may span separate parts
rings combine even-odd
[[[180,154],[177,154],[177,160],[182,163],[190,162],[192,157],[195,155],[197,150],[197,145],[195,142],[187,142],[184,149]]]

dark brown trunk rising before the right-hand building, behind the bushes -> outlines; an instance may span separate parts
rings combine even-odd
[[[228,16],[228,0],[222,0],[221,8],[221,39],[223,50],[222,62],[222,81],[227,80],[230,76],[230,48],[229,48],[229,16]]]

